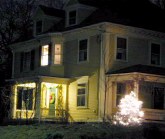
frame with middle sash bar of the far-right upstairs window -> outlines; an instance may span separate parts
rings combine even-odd
[[[155,44],[155,45],[159,45],[159,55],[156,54],[156,53],[152,53],[152,44]],[[161,66],[161,44],[160,43],[157,43],[157,42],[150,42],[150,64],[151,65],[154,65],[154,66]],[[159,56],[159,63],[158,64],[154,64],[152,63],[152,55],[158,55]]]

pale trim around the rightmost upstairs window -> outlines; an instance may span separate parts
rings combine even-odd
[[[151,63],[151,55],[152,55],[152,53],[151,53],[151,48],[152,48],[152,44],[156,44],[156,45],[159,45],[159,47],[160,47],[160,54],[159,54],[159,64],[152,64]],[[149,47],[149,64],[150,65],[153,65],[153,66],[161,66],[161,49],[162,49],[162,47],[161,47],[161,43],[159,43],[159,42],[154,42],[154,41],[152,41],[152,42],[150,42],[150,47]]]

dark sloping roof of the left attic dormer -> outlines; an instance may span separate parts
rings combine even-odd
[[[55,9],[55,8],[47,7],[47,6],[43,6],[43,5],[39,5],[39,7],[41,8],[41,10],[46,15],[55,16],[55,17],[61,17],[61,18],[65,17],[65,11],[64,10]]]

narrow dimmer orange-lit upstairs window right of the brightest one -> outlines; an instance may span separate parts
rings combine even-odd
[[[55,44],[54,64],[61,64],[61,44]]]

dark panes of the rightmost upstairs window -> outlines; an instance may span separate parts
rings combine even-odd
[[[160,44],[151,44],[151,64],[160,65]]]

